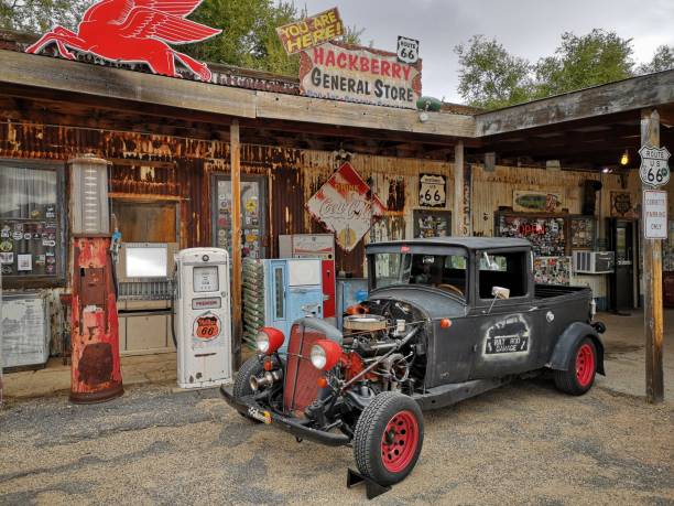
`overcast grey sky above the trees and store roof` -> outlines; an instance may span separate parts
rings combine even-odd
[[[496,37],[518,56],[536,61],[559,44],[563,32],[594,28],[632,39],[634,60],[674,45],[674,0],[295,0],[309,15],[337,6],[345,24],[365,29],[363,43],[395,51],[398,35],[418,39],[424,95],[463,101],[456,91],[454,46],[471,35]]]

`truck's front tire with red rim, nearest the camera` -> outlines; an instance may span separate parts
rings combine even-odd
[[[362,410],[354,433],[354,456],[361,474],[380,485],[403,481],[424,443],[424,419],[409,396],[384,391]]]

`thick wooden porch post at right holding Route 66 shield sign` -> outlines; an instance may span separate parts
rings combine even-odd
[[[660,148],[660,115],[655,109],[641,111],[641,146]],[[642,185],[642,190],[646,186]],[[643,208],[643,203],[641,204]],[[643,216],[641,229],[644,227]],[[646,351],[646,401],[652,403],[664,400],[664,379],[662,368],[662,243],[661,239],[643,240],[643,329]]]

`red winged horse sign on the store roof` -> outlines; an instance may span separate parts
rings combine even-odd
[[[77,33],[56,26],[25,51],[39,53],[55,43],[58,54],[68,60],[75,60],[69,47],[108,61],[145,63],[155,74],[181,77],[177,58],[207,82],[210,71],[205,63],[168,46],[205,41],[221,32],[185,19],[202,1],[101,0],[85,12]]]

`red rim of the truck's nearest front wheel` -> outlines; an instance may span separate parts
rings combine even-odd
[[[418,423],[411,411],[400,411],[389,420],[381,437],[381,460],[387,471],[400,473],[416,453]]]

